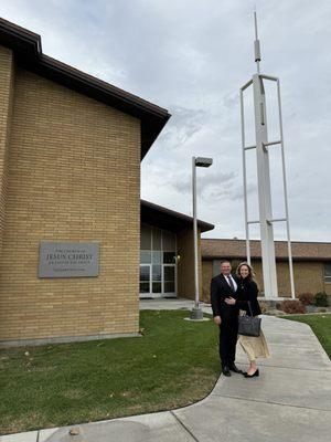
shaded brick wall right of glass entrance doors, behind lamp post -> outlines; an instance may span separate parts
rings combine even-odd
[[[197,232],[197,269],[199,269],[199,286],[200,299],[203,297],[202,292],[202,266],[201,266],[201,239],[200,230]],[[194,248],[193,248],[193,230],[183,230],[178,233],[177,248],[180,254],[178,263],[178,296],[194,299]]]

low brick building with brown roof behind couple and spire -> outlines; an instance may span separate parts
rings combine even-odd
[[[291,242],[296,295],[325,292],[331,295],[331,243]],[[287,242],[276,241],[276,265],[279,296],[290,297]],[[244,240],[203,239],[201,241],[203,299],[210,299],[211,278],[220,273],[222,260],[229,260],[233,269],[246,259]],[[260,242],[250,241],[250,257],[256,280],[263,294]]]

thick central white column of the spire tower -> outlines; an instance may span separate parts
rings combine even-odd
[[[274,228],[273,223],[267,222],[267,220],[273,219],[269,155],[263,146],[268,143],[266,97],[259,74],[253,76],[253,88],[264,290],[266,298],[276,298],[278,297],[278,287]]]

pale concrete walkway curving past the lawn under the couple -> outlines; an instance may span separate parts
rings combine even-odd
[[[143,301],[141,308],[191,308],[183,299]],[[205,311],[210,307],[205,306]],[[190,407],[152,414],[0,436],[1,442],[327,442],[331,436],[331,362],[306,324],[263,317],[271,358],[259,378],[220,377]],[[247,359],[238,347],[237,365]]]

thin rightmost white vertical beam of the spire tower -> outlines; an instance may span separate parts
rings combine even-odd
[[[288,213],[287,180],[286,180],[286,168],[285,168],[282,117],[281,117],[281,98],[280,98],[280,84],[279,84],[278,78],[277,78],[277,95],[278,95],[280,145],[281,145],[282,186],[284,186],[285,215],[286,215],[286,230],[287,230],[288,265],[289,265],[289,273],[290,273],[291,297],[292,297],[292,299],[295,299],[296,291],[295,291],[293,263],[292,263],[289,213]]]

